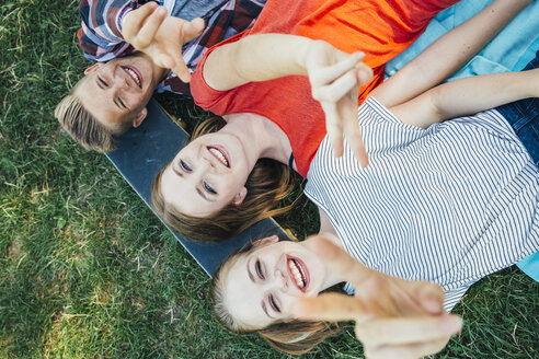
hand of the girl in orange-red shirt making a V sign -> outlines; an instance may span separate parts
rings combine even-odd
[[[343,140],[367,166],[367,152],[357,123],[357,91],[372,78],[372,70],[362,62],[363,53],[340,51],[324,42],[313,42],[306,56],[306,69],[312,97],[325,113],[325,127],[335,157],[343,154]]]

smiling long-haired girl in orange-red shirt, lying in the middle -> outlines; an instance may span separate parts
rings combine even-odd
[[[349,120],[355,118],[357,102],[381,82],[385,63],[455,2],[267,1],[251,30],[211,48],[194,72],[191,89],[195,102],[222,116],[227,126],[187,144],[160,173],[152,189],[156,212],[171,229],[198,241],[230,238],[276,215],[276,204],[289,189],[287,165],[307,175],[326,125],[337,154],[345,132],[365,164],[357,124]],[[284,8],[288,9],[286,16]],[[339,51],[333,47],[326,50],[322,42],[307,48],[314,42],[275,33],[326,39]],[[492,36],[490,28],[483,33]],[[320,63],[302,62],[301,57],[310,50],[318,51],[319,57],[311,54],[310,58]],[[374,68],[374,76],[360,63],[359,54],[348,56],[358,50]],[[363,85],[340,103],[324,100],[324,84],[314,83],[311,89],[306,74],[344,58],[360,69],[356,74],[348,71],[334,86],[343,81],[343,85],[351,81],[363,81]],[[323,71],[318,80],[311,77],[313,81],[323,82]],[[343,106],[346,113],[342,113]],[[206,146],[202,147],[203,142]],[[239,150],[238,158],[228,146]],[[220,166],[215,166],[217,160]]]

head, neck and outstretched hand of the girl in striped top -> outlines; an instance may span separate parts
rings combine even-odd
[[[325,232],[302,242],[259,240],[221,264],[211,282],[219,321],[302,354],[353,320],[366,357],[383,359],[434,354],[460,331],[460,317],[443,308],[439,286],[369,269],[326,230],[322,221]],[[343,281],[357,289],[355,297],[339,290]]]

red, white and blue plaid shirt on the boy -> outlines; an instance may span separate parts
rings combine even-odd
[[[182,15],[183,7],[177,7],[177,3],[182,1],[184,0],[164,1],[169,14]],[[266,2],[266,0],[221,1],[206,1],[208,4],[214,2],[218,4],[202,16],[206,22],[203,34],[184,45],[182,49],[185,63],[192,72],[209,47],[251,27]],[[85,58],[92,61],[108,61],[136,51],[124,40],[119,28],[122,16],[128,11],[128,0],[80,1],[79,12],[82,26],[77,36]],[[183,19],[188,19],[185,14],[183,15]],[[157,91],[190,93],[188,84],[183,83],[173,72],[170,72],[167,79],[158,85]]]

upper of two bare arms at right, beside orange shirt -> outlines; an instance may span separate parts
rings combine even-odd
[[[494,0],[438,38],[371,92],[385,106],[400,105],[448,78],[483,48],[531,0]]]

